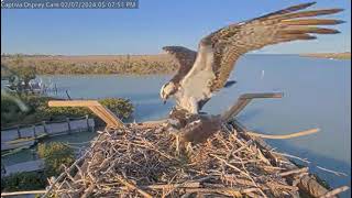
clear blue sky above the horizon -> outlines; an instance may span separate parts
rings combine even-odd
[[[135,10],[1,10],[1,53],[156,54],[165,45],[196,48],[224,25],[304,0],[140,0]],[[318,0],[312,8],[344,8],[337,35],[265,47],[256,53],[351,51],[351,0]],[[331,18],[331,16],[326,16]]]

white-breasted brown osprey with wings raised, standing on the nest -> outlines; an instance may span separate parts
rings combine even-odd
[[[299,40],[315,40],[312,34],[336,34],[333,29],[317,25],[343,21],[312,16],[333,14],[342,9],[300,11],[315,2],[298,4],[245,22],[231,24],[204,37],[198,53],[182,46],[164,51],[179,63],[176,75],[161,89],[161,98],[176,99],[176,109],[197,114],[212,94],[231,85],[228,82],[235,61],[243,54],[266,45]]]

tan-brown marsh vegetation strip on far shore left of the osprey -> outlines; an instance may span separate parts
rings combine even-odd
[[[168,55],[119,56],[1,56],[9,68],[32,67],[38,75],[172,74],[176,62]]]

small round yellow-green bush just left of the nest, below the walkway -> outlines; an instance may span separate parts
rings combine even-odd
[[[74,150],[62,142],[38,144],[37,154],[44,160],[44,175],[46,177],[58,176],[63,166],[70,166],[75,162]]]

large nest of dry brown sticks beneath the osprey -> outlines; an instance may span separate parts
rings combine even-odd
[[[106,130],[82,162],[51,184],[58,197],[293,197],[287,169],[273,165],[231,125],[207,142],[179,146],[165,127]]]

